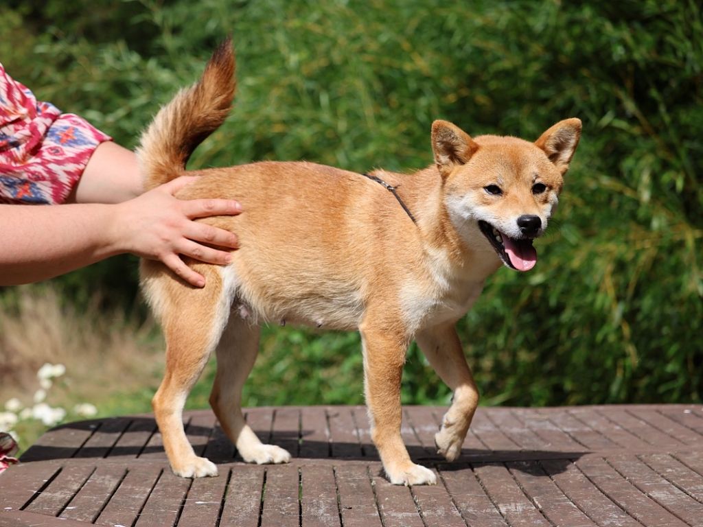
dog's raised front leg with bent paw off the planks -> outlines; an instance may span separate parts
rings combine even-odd
[[[454,393],[441,429],[434,436],[437,453],[453,461],[461,454],[461,445],[479,403],[479,391],[453,324],[423,330],[415,336],[415,341]]]

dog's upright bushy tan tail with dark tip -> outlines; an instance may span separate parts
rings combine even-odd
[[[226,39],[200,80],[159,110],[136,151],[144,190],[182,176],[193,150],[227,118],[236,88],[234,68],[232,41]]]

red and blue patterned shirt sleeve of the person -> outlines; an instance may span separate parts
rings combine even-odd
[[[65,202],[93,151],[111,139],[82,117],[37,101],[0,64],[0,203]]]

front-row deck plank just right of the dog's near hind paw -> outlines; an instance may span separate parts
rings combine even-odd
[[[257,527],[262,505],[265,469],[259,465],[232,467],[221,526]]]

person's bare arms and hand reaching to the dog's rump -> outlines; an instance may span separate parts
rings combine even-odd
[[[237,239],[193,219],[238,214],[240,207],[231,200],[176,199],[174,193],[192,179],[178,178],[139,195],[134,153],[102,143],[68,204],[0,205],[0,285],[52,278],[129,252],[159,259],[191,285],[202,287],[202,275],[186,266],[179,254],[225,264],[229,252],[208,245],[234,249]]]

